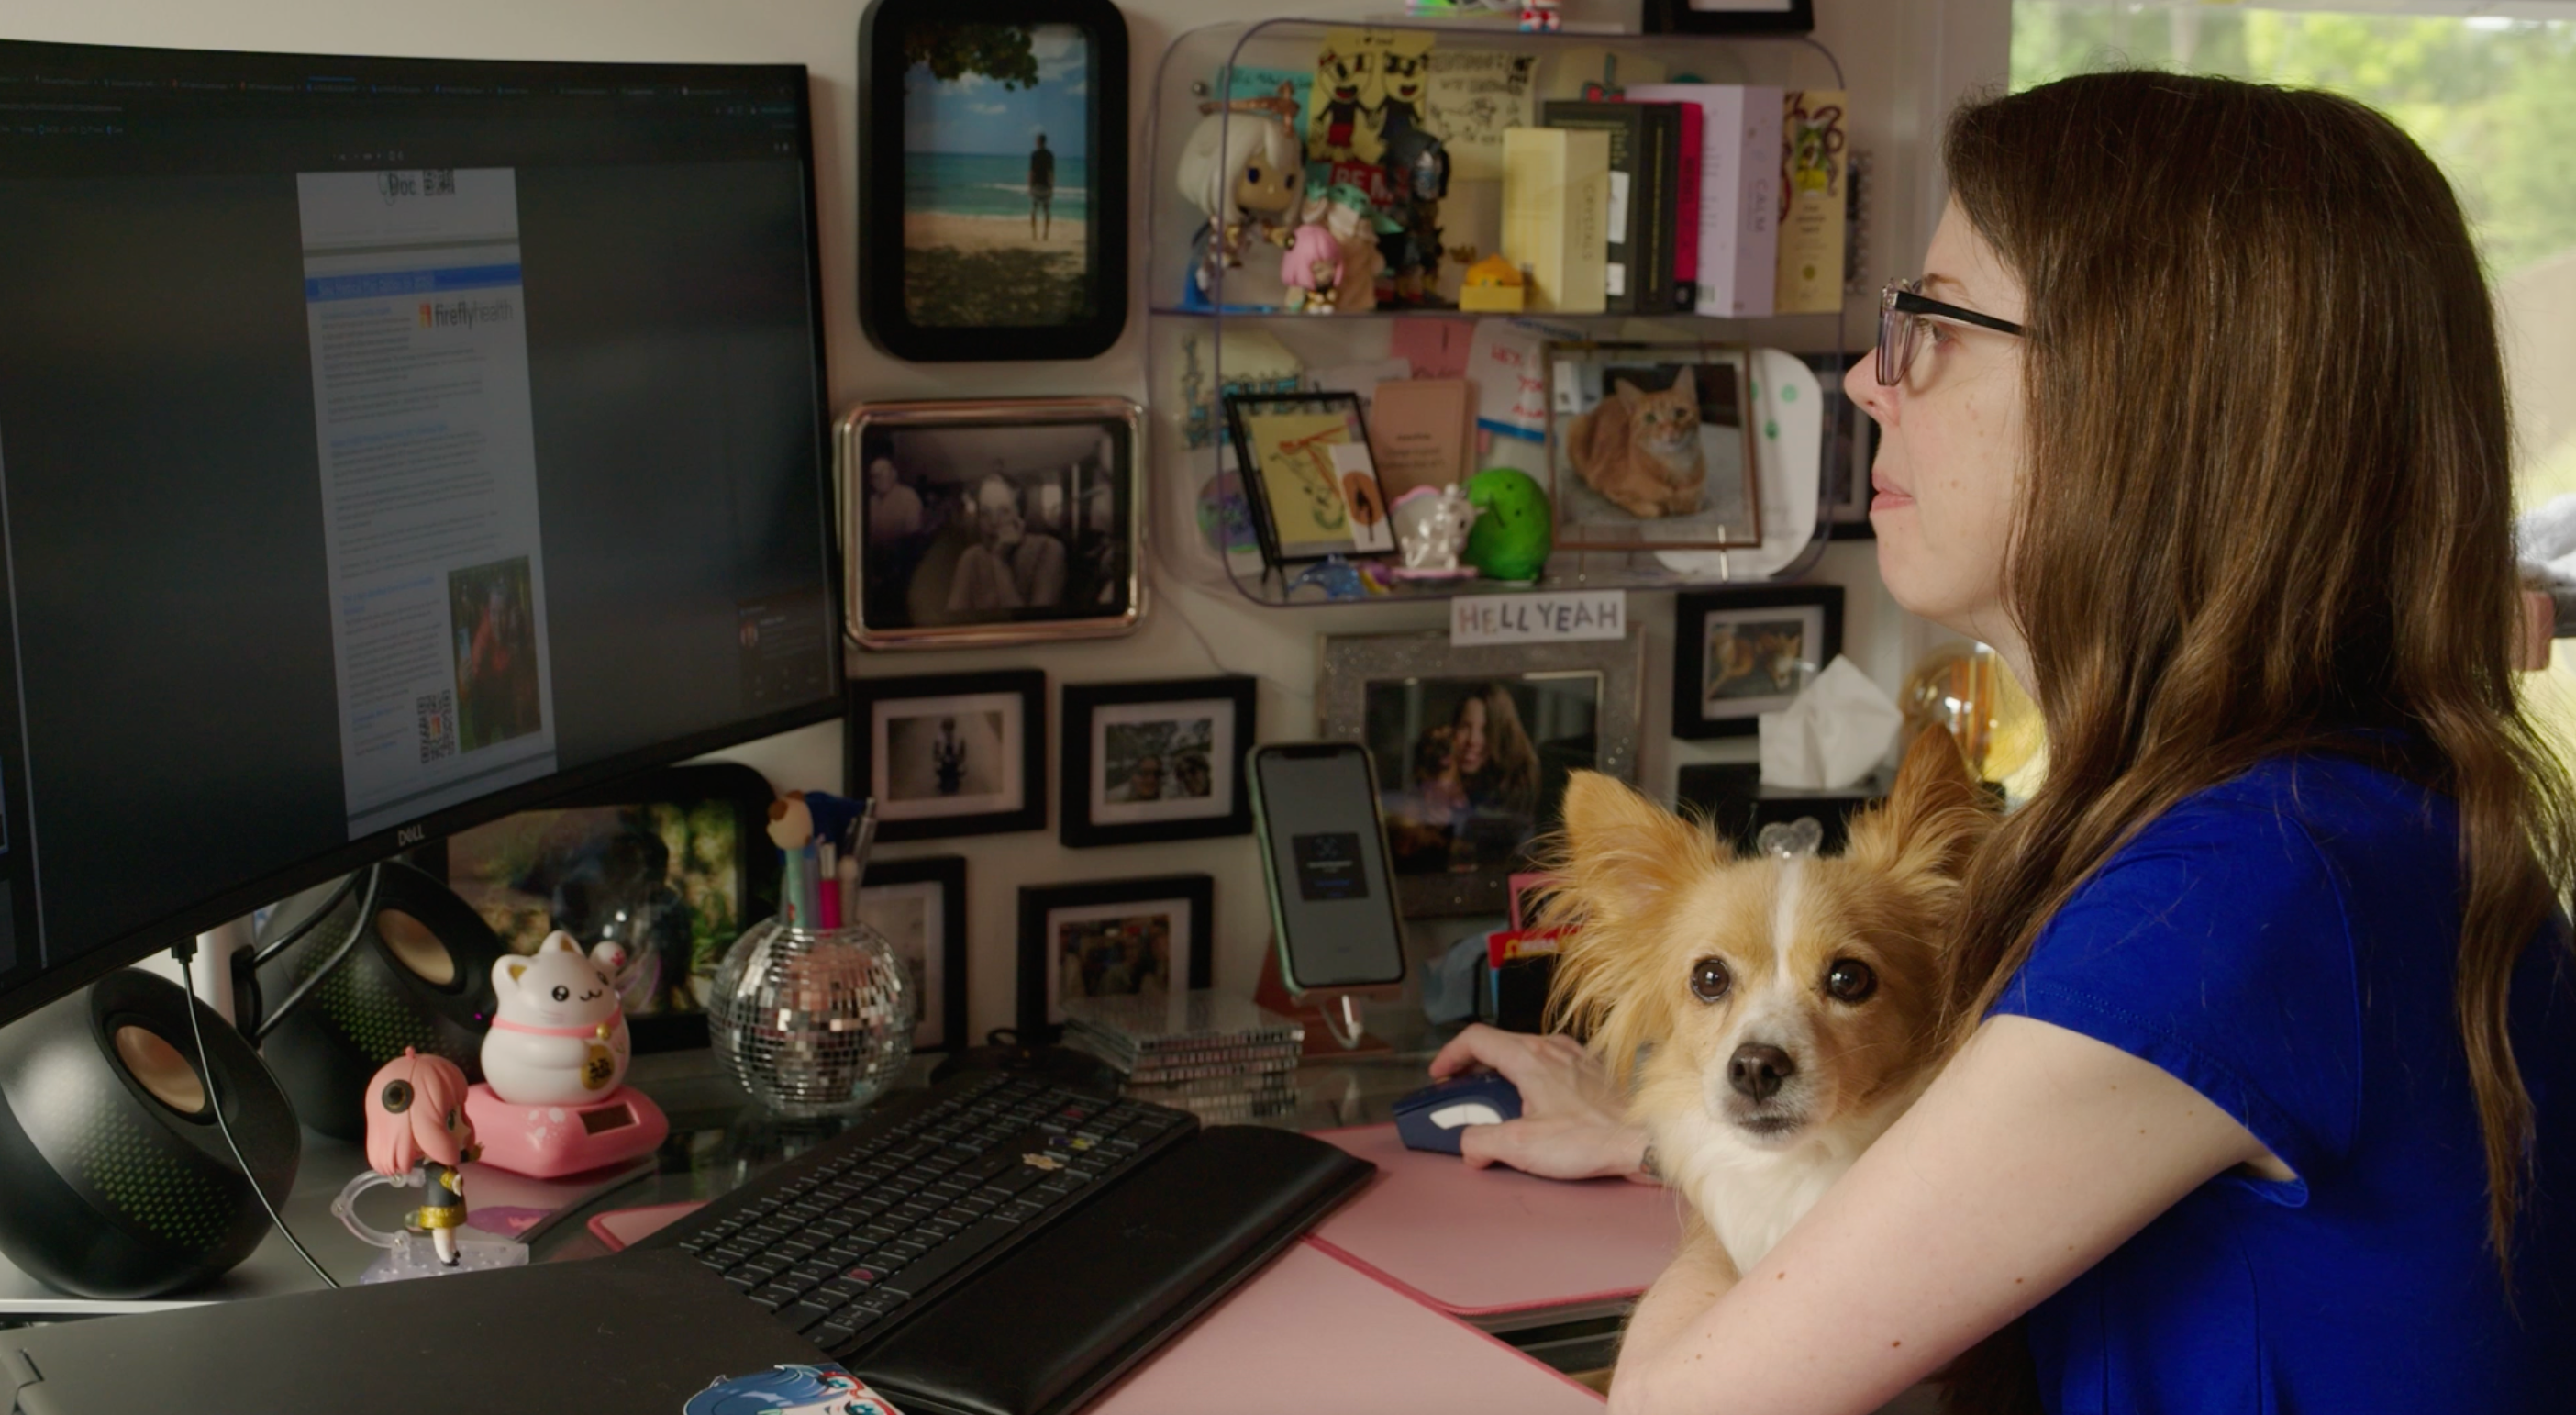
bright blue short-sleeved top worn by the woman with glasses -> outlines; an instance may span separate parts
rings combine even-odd
[[[1994,1013],[2143,1057],[2298,1175],[2221,1175],[2030,1312],[2056,1412],[2571,1410],[2576,959],[2550,928],[2509,1026],[2537,1152],[2506,1304],[2452,974],[2450,796],[2277,758],[2151,822]]]

